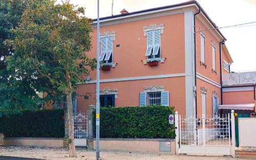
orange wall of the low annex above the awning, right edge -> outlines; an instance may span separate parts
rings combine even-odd
[[[254,91],[223,92],[223,104],[254,103]]]

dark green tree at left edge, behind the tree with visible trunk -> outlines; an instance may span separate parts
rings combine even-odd
[[[28,0],[0,1],[0,116],[16,114],[22,109],[38,109],[43,100],[32,87],[37,82],[33,76],[28,73],[17,75],[6,66],[6,58],[14,54],[14,49],[5,41],[14,39],[11,30],[16,28],[29,4]]]

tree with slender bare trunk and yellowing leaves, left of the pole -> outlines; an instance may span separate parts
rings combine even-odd
[[[51,0],[34,0],[36,7],[28,7],[16,29],[13,46],[15,54],[7,57],[9,69],[17,75],[27,71],[38,79],[46,78],[55,92],[67,99],[69,155],[76,156],[72,92],[83,81],[96,60],[86,56],[91,49],[91,20],[84,16],[84,8],[67,2],[55,5]],[[39,3],[40,2],[40,3]]]

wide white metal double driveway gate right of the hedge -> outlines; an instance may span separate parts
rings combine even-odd
[[[230,116],[181,116],[175,115],[176,145],[179,154],[232,155]]]

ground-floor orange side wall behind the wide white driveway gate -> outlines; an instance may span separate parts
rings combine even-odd
[[[206,115],[212,115],[213,92],[217,92],[218,98],[220,98],[220,101],[221,101],[221,89],[205,81],[202,81],[202,79],[197,78],[197,115],[202,115],[201,87],[205,87],[207,89]]]

